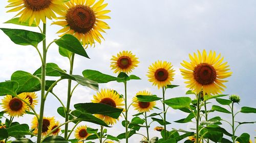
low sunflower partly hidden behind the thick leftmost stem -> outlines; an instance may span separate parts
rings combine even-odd
[[[52,124],[54,124],[54,122],[55,122],[54,117],[44,117],[42,119],[42,136],[47,135],[49,127]],[[33,131],[34,134],[38,133],[38,121],[37,121],[36,117],[34,117],[33,120],[32,120],[31,129],[34,129],[34,131]]]

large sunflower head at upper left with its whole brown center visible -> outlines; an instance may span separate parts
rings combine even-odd
[[[57,33],[74,35],[83,46],[95,43],[94,40],[101,43],[103,36],[100,32],[105,33],[103,29],[109,29],[110,26],[102,19],[110,19],[105,14],[110,10],[103,10],[108,4],[103,4],[104,0],[71,0],[65,3],[65,10],[58,17],[60,21],[52,24],[60,25],[63,28]]]

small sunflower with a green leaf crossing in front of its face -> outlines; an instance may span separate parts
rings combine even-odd
[[[136,93],[137,95],[147,95],[147,96],[152,96],[152,94],[148,91],[139,91]],[[138,110],[139,112],[149,112],[150,110],[153,110],[153,107],[156,105],[156,101],[152,102],[140,102],[138,101],[137,97],[133,97],[133,107]]]

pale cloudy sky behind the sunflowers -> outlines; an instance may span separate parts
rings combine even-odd
[[[146,72],[148,66],[157,60],[171,62],[175,71],[172,84],[180,85],[178,88],[168,90],[166,98],[189,96],[185,92],[184,79],[180,74],[180,63],[182,60],[189,61],[188,54],[202,51],[205,49],[214,50],[224,56],[224,61],[228,62],[232,76],[225,83],[227,89],[223,94],[237,94],[241,97],[240,104],[236,104],[235,110],[239,111],[242,106],[255,106],[255,80],[256,80],[256,1],[146,1],[146,0],[112,0],[105,1],[109,3],[106,9],[111,10],[108,15],[111,19],[105,20],[111,29],[107,34],[103,34],[105,41],[96,44],[95,48],[86,49],[91,59],[76,55],[74,62],[74,74],[80,74],[85,69],[98,70],[100,72],[117,76],[111,71],[110,59],[119,51],[132,51],[139,58],[139,66],[133,70],[132,74],[139,76],[142,80],[129,81],[127,84],[128,102],[138,91],[148,90],[161,97],[161,90],[152,86],[147,81]],[[7,1],[0,2],[0,27],[21,28],[39,32],[37,28],[18,26],[13,24],[4,24],[5,21],[15,16],[15,13],[6,13]],[[55,34],[60,30],[60,26],[50,25],[52,21],[48,20],[47,42],[57,39]],[[10,79],[11,74],[17,70],[24,70],[33,73],[40,67],[40,60],[37,52],[31,46],[20,46],[14,44],[2,31],[0,31],[0,81]],[[57,45],[53,44],[47,55],[48,63],[56,63],[60,68],[69,70],[68,59],[63,58],[58,53]],[[48,79],[52,79],[48,77]],[[59,82],[54,91],[66,103],[67,80]],[[75,82],[73,82],[75,84]],[[100,89],[110,88],[124,93],[123,84],[109,82],[100,84]],[[76,103],[91,102],[96,92],[79,86],[72,97],[71,107]],[[37,92],[38,96],[39,93]],[[228,97],[225,97],[228,98]],[[3,99],[3,97],[0,97]],[[54,116],[56,120],[64,121],[57,113],[57,107],[61,106],[53,96],[48,96],[46,101],[45,116]],[[216,103],[211,100],[212,104]],[[211,105],[212,105],[211,104]],[[208,108],[210,108],[210,106]],[[161,104],[158,103],[158,107]],[[74,109],[74,108],[72,108]],[[39,112],[39,106],[36,106]],[[154,110],[159,112],[159,110]],[[129,115],[135,114],[131,110]],[[179,124],[173,121],[185,118],[187,115],[181,111],[169,108],[167,112],[167,121],[171,125],[167,129],[176,128],[190,130],[196,125]],[[231,115],[212,112],[210,117],[221,116],[223,119],[231,122]],[[21,123],[28,123],[33,116],[26,115],[15,119]],[[132,117],[129,117],[131,119]],[[123,118],[120,119],[124,120]],[[255,114],[239,114],[237,121],[256,121]],[[99,128],[97,125],[83,123],[93,128]],[[82,124],[81,124],[82,125]],[[150,128],[150,136],[160,136],[159,132],[153,131],[158,124],[153,123]],[[223,124],[223,127],[231,132],[231,127]],[[108,130],[112,135],[118,135],[124,132],[120,122]],[[237,130],[236,135],[247,132],[251,139],[256,136],[256,125],[243,125]],[[191,130],[190,130],[191,131]],[[145,130],[141,130],[145,134]],[[134,135],[130,142],[139,142],[142,136]],[[122,140],[122,142],[124,142]]]

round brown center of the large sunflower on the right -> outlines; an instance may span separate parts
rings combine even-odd
[[[206,63],[197,65],[194,69],[193,75],[194,79],[202,85],[214,83],[217,77],[214,67]]]

